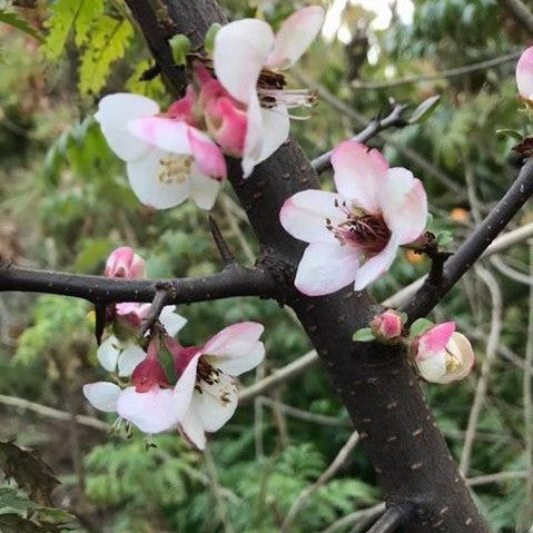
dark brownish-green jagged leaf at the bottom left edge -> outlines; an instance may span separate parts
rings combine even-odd
[[[51,505],[50,494],[59,481],[50,466],[39,457],[12,442],[0,442],[0,468],[8,480],[14,480],[33,501]]]

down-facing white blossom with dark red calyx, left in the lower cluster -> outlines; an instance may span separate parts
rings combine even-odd
[[[177,402],[158,359],[159,340],[148,345],[147,356],[136,366],[131,386],[97,382],[83,386],[83,394],[97,409],[117,413],[144,433],[159,433],[178,424],[188,405]]]

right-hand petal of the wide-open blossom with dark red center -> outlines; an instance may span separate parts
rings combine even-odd
[[[420,237],[427,220],[427,198],[422,181],[405,168],[391,168],[378,196],[383,218],[397,235],[399,244]]]

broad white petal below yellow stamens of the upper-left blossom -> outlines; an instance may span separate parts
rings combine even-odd
[[[145,158],[128,162],[129,184],[145,206],[168,209],[189,197],[189,178],[160,177],[164,170],[160,161],[168,157],[169,152],[155,148]]]

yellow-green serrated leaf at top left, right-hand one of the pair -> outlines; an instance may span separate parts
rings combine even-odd
[[[106,83],[111,63],[124,57],[134,36],[127,20],[102,16],[91,31],[79,68],[79,90],[83,95],[97,93]]]

